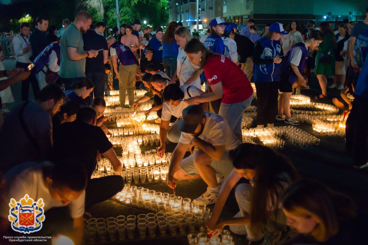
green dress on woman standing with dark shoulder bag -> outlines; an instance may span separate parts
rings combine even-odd
[[[316,67],[314,71],[314,75],[328,75],[334,76],[335,75],[335,51],[333,47],[333,40],[331,33],[327,33],[323,38],[323,42],[319,44],[318,53],[316,57]],[[331,64],[325,65],[319,62],[319,57],[321,54],[327,54],[328,51],[332,54]]]

